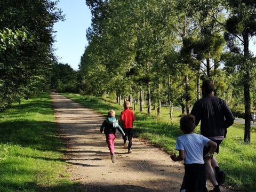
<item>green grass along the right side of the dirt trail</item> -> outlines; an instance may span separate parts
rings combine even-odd
[[[114,109],[118,114],[123,110],[122,106],[108,98],[96,98],[91,96],[81,96],[79,94],[63,94],[76,102],[90,107],[101,114],[107,115],[109,109]],[[179,119],[181,111],[174,110],[173,122],[170,121],[169,109],[162,108],[161,117],[157,117],[157,111],[153,110],[151,115],[139,111],[139,105],[135,110],[136,121],[134,123],[135,137],[147,139],[150,143],[163,148],[167,153],[172,153],[175,141],[181,131],[179,130]],[[195,132],[199,132],[197,128]],[[251,133],[253,145],[243,144],[244,126],[234,124],[229,127],[228,135],[223,140],[220,153],[215,155],[222,170],[227,173],[226,186],[242,191],[255,191],[256,184],[256,133]],[[170,159],[171,161],[171,159]]]

